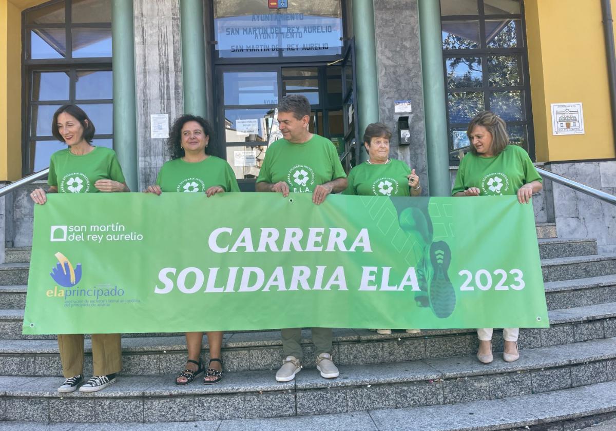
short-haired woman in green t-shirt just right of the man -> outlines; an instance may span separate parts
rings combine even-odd
[[[343,195],[363,196],[419,196],[421,183],[415,169],[402,160],[389,158],[391,131],[383,123],[368,124],[363,134],[367,161],[351,169],[347,176],[349,185]],[[419,329],[407,329],[417,334]],[[379,334],[391,334],[391,329],[376,329]]]

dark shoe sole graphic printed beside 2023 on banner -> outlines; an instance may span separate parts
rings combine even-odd
[[[428,298],[430,308],[438,318],[444,319],[456,307],[456,292],[449,280],[447,271],[452,262],[452,251],[445,241],[436,241],[430,246],[430,261],[434,275],[429,283]]]

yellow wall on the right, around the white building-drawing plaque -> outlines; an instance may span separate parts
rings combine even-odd
[[[524,7],[537,161],[614,158],[601,2],[525,0]],[[585,134],[552,134],[550,104],[567,102],[582,102]]]

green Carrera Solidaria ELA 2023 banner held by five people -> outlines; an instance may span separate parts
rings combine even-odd
[[[49,195],[24,334],[546,328],[516,196]]]

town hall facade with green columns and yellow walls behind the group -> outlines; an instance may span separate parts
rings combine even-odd
[[[134,190],[182,113],[212,121],[217,155],[254,190],[275,105],[301,93],[347,168],[381,121],[391,156],[446,194],[466,124],[491,109],[534,161],[614,193],[605,19],[600,0],[0,0],[0,181],[47,166],[51,115],[73,102]],[[561,187],[535,201],[559,235],[616,244],[604,204]]]

